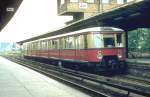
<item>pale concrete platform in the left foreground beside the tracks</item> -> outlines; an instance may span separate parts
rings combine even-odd
[[[90,97],[36,71],[0,57],[0,97]]]

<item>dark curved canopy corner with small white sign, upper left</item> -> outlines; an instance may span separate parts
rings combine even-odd
[[[23,0],[0,0],[0,31],[7,25]]]

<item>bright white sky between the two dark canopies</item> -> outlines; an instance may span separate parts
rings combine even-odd
[[[0,32],[0,42],[18,42],[65,26],[72,17],[58,16],[57,0],[23,0]]]

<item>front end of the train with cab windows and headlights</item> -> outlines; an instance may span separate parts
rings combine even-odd
[[[89,60],[95,61],[96,71],[125,72],[126,54],[125,54],[125,33],[123,30],[116,28],[103,29],[99,32],[94,31],[88,35],[91,42],[89,46]]]

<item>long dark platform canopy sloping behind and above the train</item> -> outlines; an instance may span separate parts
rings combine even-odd
[[[36,39],[95,26],[110,26],[121,28],[125,31],[140,27],[150,27],[150,0],[134,0],[134,2],[126,3],[90,18],[79,20],[63,28],[50,31],[47,34],[22,40],[18,43],[23,44],[24,42]]]

